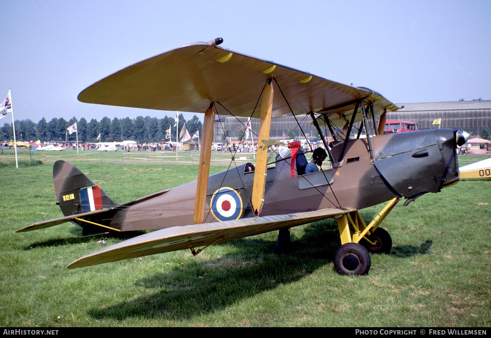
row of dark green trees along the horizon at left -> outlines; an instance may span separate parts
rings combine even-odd
[[[108,142],[113,140],[134,140],[138,143],[154,142],[159,138],[165,138],[166,130],[171,129],[172,141],[176,141],[176,128],[181,130],[186,123],[186,129],[193,135],[199,131],[201,137],[203,125],[198,117],[194,115],[191,120],[186,121],[183,114],[179,114],[179,124],[174,127],[174,117],[165,116],[162,119],[150,116],[138,116],[135,119],[126,117],[118,119],[115,117],[112,121],[109,117],[104,117],[101,121],[91,119],[87,122],[85,118],[77,120],[74,116],[69,121],[64,118],[53,118],[46,122],[43,117],[37,124],[30,119],[15,121],[15,137],[23,141],[55,141],[75,142],[77,135],[67,134],[67,128],[77,123],[79,142]],[[178,132],[179,133],[179,132]],[[98,140],[98,135],[101,139]],[[14,138],[12,124],[5,123],[0,128],[0,140],[12,140]]]

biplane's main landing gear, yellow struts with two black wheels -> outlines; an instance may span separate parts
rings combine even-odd
[[[367,226],[358,210],[337,218],[341,246],[334,254],[334,267],[343,275],[365,275],[370,270],[369,253],[389,253],[392,247],[390,235],[379,228],[379,225],[389,212],[399,202],[400,197],[394,197],[375,216]],[[353,228],[353,234],[350,231]]]

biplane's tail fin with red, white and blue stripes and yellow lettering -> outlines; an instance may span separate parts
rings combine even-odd
[[[71,163],[56,161],[53,181],[56,204],[65,216],[119,206],[100,186],[90,181]]]

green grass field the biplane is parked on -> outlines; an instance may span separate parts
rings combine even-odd
[[[117,202],[193,180],[197,165],[81,161]],[[0,158],[0,326],[489,327],[491,181],[462,181],[400,203],[382,227],[388,255],[367,276],[333,269],[337,222],[292,229],[297,249],[274,251],[276,233],[234,240],[197,257],[179,251],[82,269],[66,266],[128,235],[82,237],[70,223],[15,233],[61,216],[53,163],[19,169]],[[222,166],[212,166],[214,172]],[[382,208],[361,210],[366,221]]]

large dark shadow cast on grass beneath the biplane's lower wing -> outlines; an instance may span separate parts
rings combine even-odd
[[[333,261],[339,234],[328,222],[307,226],[304,234],[293,241],[295,248],[288,254],[275,253],[276,243],[265,239],[243,238],[218,244],[232,245],[237,250],[213,260],[188,260],[170,272],[144,277],[136,285],[158,291],[105,309],[93,309],[88,314],[114,320],[135,316],[190,319],[298,282]],[[419,248],[393,247],[391,255],[404,258],[425,254],[430,245],[431,241],[427,241]]]

